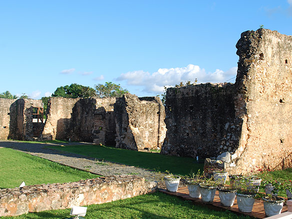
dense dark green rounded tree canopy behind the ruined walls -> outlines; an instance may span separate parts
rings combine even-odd
[[[77,97],[95,97],[96,93],[95,90],[91,87],[85,87],[79,84],[71,84],[70,86],[61,86],[56,89],[52,97],[70,97],[70,98],[77,98]]]

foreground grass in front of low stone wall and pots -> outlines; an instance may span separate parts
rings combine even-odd
[[[87,206],[85,218],[250,218],[229,211],[215,211],[193,205],[190,201],[156,192],[124,200]],[[1,218],[66,218],[70,209],[50,210]]]

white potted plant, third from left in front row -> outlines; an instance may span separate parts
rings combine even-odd
[[[205,177],[203,182],[199,184],[202,201],[212,202],[219,184],[220,181],[214,180],[213,176],[211,178]]]

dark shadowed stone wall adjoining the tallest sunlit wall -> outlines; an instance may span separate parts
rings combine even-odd
[[[167,89],[167,132],[161,153],[206,158],[234,152],[240,132],[233,96],[230,83]]]

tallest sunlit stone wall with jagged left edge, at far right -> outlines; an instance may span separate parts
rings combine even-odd
[[[236,48],[234,103],[241,136],[229,171],[292,167],[292,36],[247,31]]]

